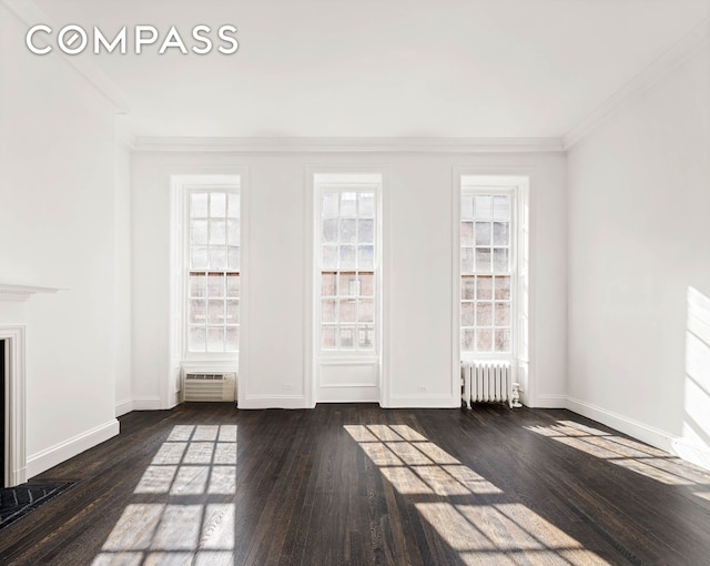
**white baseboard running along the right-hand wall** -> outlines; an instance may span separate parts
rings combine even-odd
[[[710,448],[707,446],[693,445],[680,436],[574,397],[567,397],[567,408],[592,421],[610,426],[611,428],[616,428],[651,446],[674,454],[698,466],[710,469]]]

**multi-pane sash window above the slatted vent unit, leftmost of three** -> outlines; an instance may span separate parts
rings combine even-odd
[[[187,191],[187,353],[237,352],[240,195]]]

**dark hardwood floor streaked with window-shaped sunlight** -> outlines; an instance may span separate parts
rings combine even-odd
[[[121,417],[0,564],[710,564],[710,474],[566,411]]]

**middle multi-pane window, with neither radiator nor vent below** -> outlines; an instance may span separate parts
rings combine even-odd
[[[318,344],[377,352],[379,175],[316,175]]]

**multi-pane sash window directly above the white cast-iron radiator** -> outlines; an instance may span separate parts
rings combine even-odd
[[[463,354],[513,353],[511,191],[462,193],[460,337]]]

